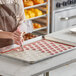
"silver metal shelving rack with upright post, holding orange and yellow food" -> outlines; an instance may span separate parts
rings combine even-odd
[[[22,0],[23,1],[23,0]],[[39,31],[40,31],[40,35],[44,35],[43,33],[41,33],[41,31],[42,30],[44,30],[45,31],[45,33],[46,34],[49,34],[50,33],[50,0],[44,0],[45,1],[45,3],[43,3],[43,4],[37,4],[37,5],[33,5],[33,6],[29,6],[29,7],[24,7],[23,6],[23,8],[24,8],[24,10],[25,9],[30,9],[30,8],[37,8],[37,7],[42,7],[42,6],[45,6],[47,9],[46,9],[46,12],[48,12],[48,13],[46,13],[46,14],[43,14],[43,15],[41,15],[41,16],[37,16],[37,17],[33,17],[33,18],[30,18],[30,19],[26,19],[25,18],[25,21],[26,20],[32,20],[32,21],[34,21],[34,22],[36,22],[35,20],[37,19],[38,20],[38,18],[45,18],[46,17],[46,20],[44,20],[44,21],[42,21],[42,23],[43,22],[45,22],[46,24],[44,25],[44,27],[41,27],[41,28],[38,28],[38,29],[34,29],[33,30],[33,32],[35,33],[39,33]],[[24,14],[24,16],[25,16],[25,14]],[[42,19],[41,19],[42,20]],[[37,21],[37,23],[41,23],[41,21],[39,22],[39,21]]]

